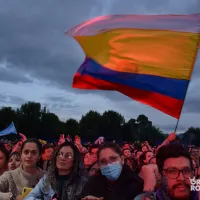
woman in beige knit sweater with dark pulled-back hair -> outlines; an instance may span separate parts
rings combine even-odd
[[[44,176],[44,171],[37,167],[41,151],[42,147],[37,139],[27,139],[22,144],[20,167],[0,176],[1,200],[21,200],[24,187],[34,188]]]

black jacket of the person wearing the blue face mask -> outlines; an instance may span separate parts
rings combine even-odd
[[[105,176],[92,177],[83,188],[81,198],[92,195],[104,200],[133,200],[143,191],[143,180],[124,165],[118,180],[109,182]]]

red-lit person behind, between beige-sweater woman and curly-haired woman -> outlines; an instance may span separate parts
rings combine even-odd
[[[54,146],[51,144],[45,144],[42,147],[42,157],[39,162],[39,167],[45,171],[48,171],[51,159],[53,157]]]

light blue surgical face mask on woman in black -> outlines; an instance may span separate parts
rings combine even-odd
[[[122,165],[119,162],[108,164],[105,167],[100,167],[100,170],[102,175],[105,176],[107,179],[115,181],[119,178],[121,174]]]

